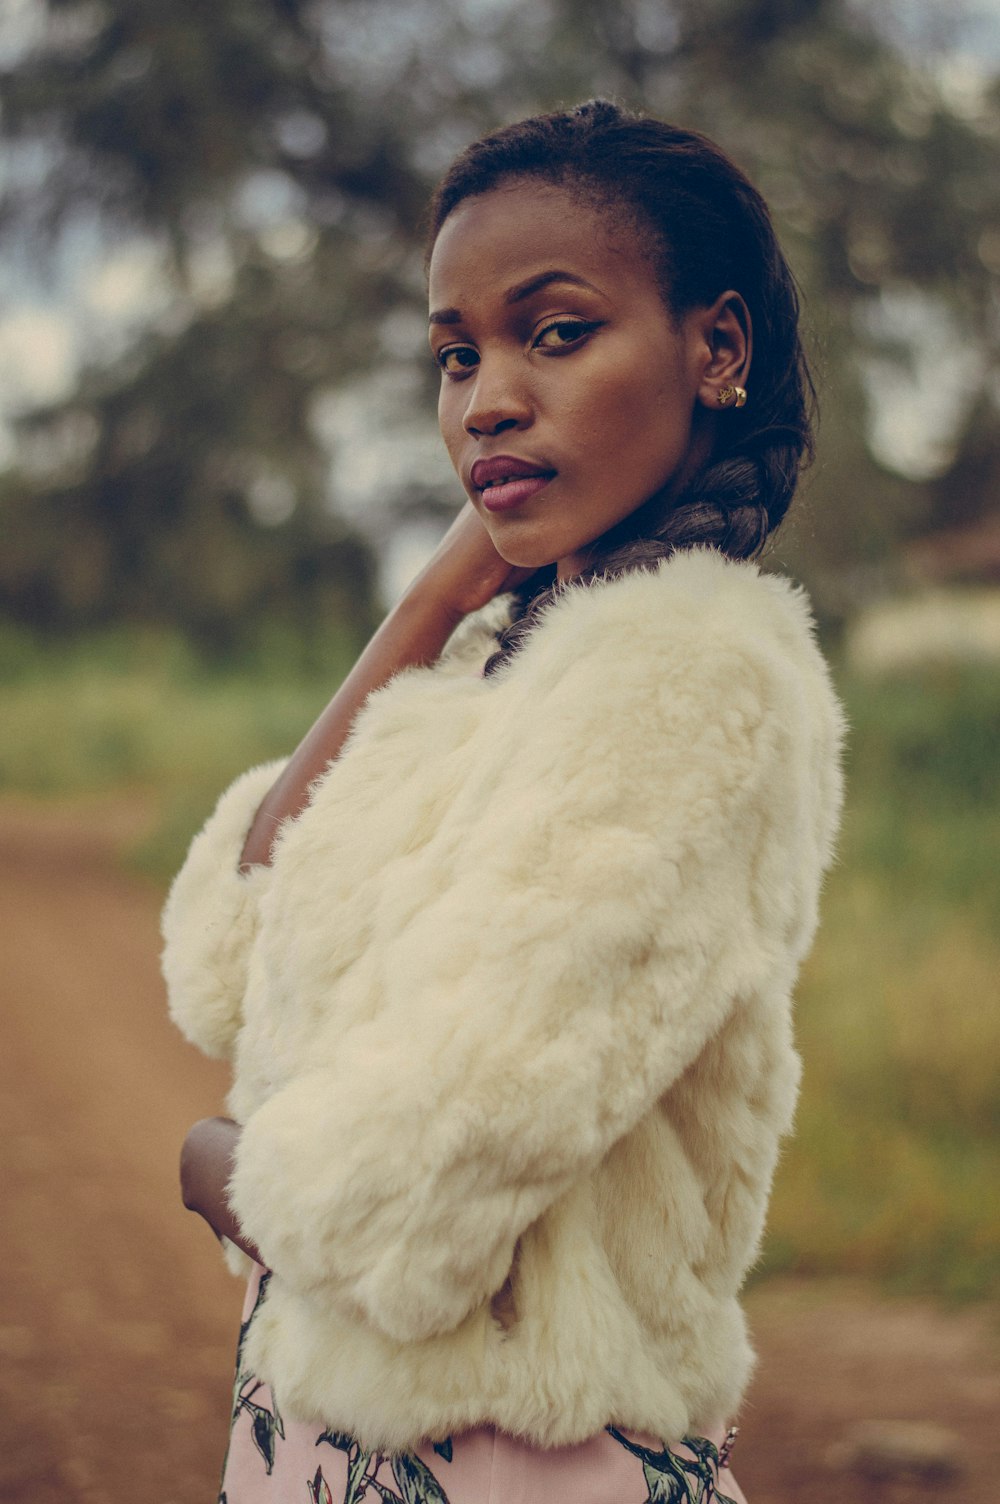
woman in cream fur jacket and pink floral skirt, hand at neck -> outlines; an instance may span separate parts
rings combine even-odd
[[[741,1498],[841,799],[752,562],[809,448],[794,284],[717,147],[600,101],[459,158],[429,284],[468,504],[164,917],[235,1062],[185,1202],[257,1265],[224,1496]]]

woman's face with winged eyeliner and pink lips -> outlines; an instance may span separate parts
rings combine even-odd
[[[635,232],[564,188],[520,180],[448,215],[430,260],[441,432],[502,558],[568,578],[707,457],[707,406],[734,379],[716,323],[675,322]]]

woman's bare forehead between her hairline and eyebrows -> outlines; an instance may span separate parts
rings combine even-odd
[[[624,214],[555,183],[513,182],[465,199],[445,220],[430,257],[430,307],[465,311],[553,268],[606,295],[659,298]]]

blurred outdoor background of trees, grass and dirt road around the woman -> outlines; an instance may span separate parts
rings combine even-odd
[[[6,0],[11,1499],[214,1498],[239,1290],[174,1160],[226,1081],[164,1024],[156,910],[460,501],[435,177],[598,93],[764,191],[821,393],[768,564],[812,593],[850,796],[737,1471],[777,1504],[1000,1496],[1000,0]]]

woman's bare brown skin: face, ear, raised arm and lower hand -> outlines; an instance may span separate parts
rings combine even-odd
[[[537,293],[516,292],[538,280]],[[594,538],[659,487],[680,489],[725,423],[719,388],[744,385],[750,365],[738,293],[674,320],[638,241],[549,185],[460,205],[432,256],[430,301],[441,429],[469,501],[263,800],[242,868],[271,863],[275,832],[305,806],[373,690],[436,662],[463,617],[543,566],[555,562],[561,579],[579,573]],[[498,454],[540,460],[552,481],[498,513],[471,480],[477,459]],[[226,1199],[238,1143],[229,1117],[191,1128],[183,1205],[263,1262]]]

